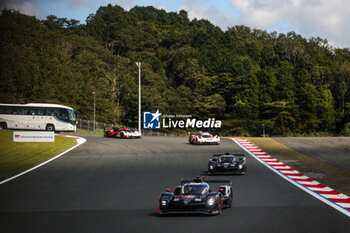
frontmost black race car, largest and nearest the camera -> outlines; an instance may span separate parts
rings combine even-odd
[[[211,191],[209,184],[220,184],[218,191]],[[205,180],[196,178],[182,180],[174,192],[166,189],[159,198],[159,215],[174,213],[220,214],[223,208],[232,205],[231,180]]]

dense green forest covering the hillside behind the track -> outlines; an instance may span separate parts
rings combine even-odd
[[[142,110],[223,120],[222,134],[347,134],[350,51],[295,32],[222,31],[187,12],[102,6],[86,24],[3,10],[0,102],[72,106],[136,126]]]

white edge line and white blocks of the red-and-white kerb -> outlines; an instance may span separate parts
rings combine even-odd
[[[348,209],[345,208],[350,208],[350,204],[348,203],[336,203],[332,200],[327,199],[324,195],[317,193],[317,191],[334,191],[334,189],[331,189],[329,187],[322,187],[322,188],[318,188],[318,187],[306,187],[303,186],[303,184],[301,184],[298,181],[293,180],[293,178],[296,179],[300,179],[300,177],[307,177],[301,173],[299,173],[298,171],[294,170],[294,171],[279,171],[278,169],[276,169],[274,166],[271,166],[271,163],[265,162],[262,158],[260,158],[260,156],[257,156],[254,151],[251,151],[250,149],[247,149],[245,147],[244,144],[248,144],[248,143],[244,143],[241,144],[237,139],[235,138],[231,138],[232,141],[234,141],[239,147],[241,147],[243,150],[245,150],[248,154],[250,154],[253,158],[255,158],[257,161],[259,161],[261,164],[263,164],[264,166],[266,166],[268,169],[270,169],[271,171],[273,171],[274,173],[278,174],[280,177],[282,177],[283,179],[287,180],[288,182],[294,184],[295,186],[297,186],[298,188],[302,189],[303,191],[307,192],[308,194],[310,194],[311,196],[319,199],[320,201],[326,203],[327,205],[333,207],[334,209],[338,210],[339,212],[347,215],[348,217],[350,217],[350,211]],[[252,145],[252,144],[249,144]],[[258,147],[255,147],[256,149]],[[260,152],[259,152],[260,153]],[[271,156],[272,157],[272,156]],[[299,177],[300,175],[300,177]],[[309,178],[309,177],[307,177]],[[302,179],[302,178],[301,178]],[[319,184],[319,183],[318,183]],[[308,184],[306,184],[308,185]],[[319,184],[321,185],[321,184]],[[346,195],[344,195],[346,196]],[[347,196],[346,196],[347,197]],[[348,197],[347,197],[348,198]],[[347,199],[346,198],[346,199]],[[335,199],[337,200],[337,199]]]

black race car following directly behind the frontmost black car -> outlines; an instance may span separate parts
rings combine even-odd
[[[214,154],[209,159],[208,175],[212,174],[245,174],[247,160],[244,154]]]

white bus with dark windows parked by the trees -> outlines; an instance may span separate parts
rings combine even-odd
[[[0,104],[2,129],[76,131],[74,110],[59,104]]]

